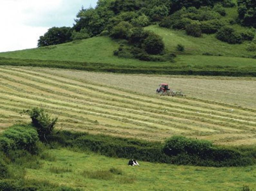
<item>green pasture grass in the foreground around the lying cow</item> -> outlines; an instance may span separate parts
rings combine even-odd
[[[83,190],[241,190],[244,185],[256,188],[256,166],[208,168],[139,161],[139,167],[130,167],[127,159],[90,152],[55,149],[49,150],[49,155],[55,161],[42,160],[42,168],[27,169],[27,179],[47,179]],[[61,173],[51,170],[67,167],[69,170]]]

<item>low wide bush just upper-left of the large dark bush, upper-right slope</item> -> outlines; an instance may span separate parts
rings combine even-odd
[[[203,33],[213,34],[216,33],[221,27],[224,26],[224,23],[220,20],[210,20],[210,21],[202,21],[200,28]]]

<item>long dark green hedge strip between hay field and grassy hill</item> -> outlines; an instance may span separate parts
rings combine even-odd
[[[73,61],[55,61],[55,60],[33,60],[33,59],[14,59],[0,57],[0,65],[11,66],[34,66],[45,68],[74,69],[83,71],[112,72],[126,74],[167,74],[167,75],[203,75],[203,76],[234,76],[256,77],[255,68],[238,68],[238,67],[219,67],[219,66],[134,66],[114,65],[109,63],[93,62],[73,62]],[[146,65],[146,63],[145,63]]]

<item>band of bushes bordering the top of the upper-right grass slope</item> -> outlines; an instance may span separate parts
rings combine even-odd
[[[213,8],[182,8],[165,17],[160,21],[159,26],[183,29],[187,35],[194,37],[201,37],[203,33],[216,33],[217,39],[230,44],[240,44],[243,40],[252,40],[254,38],[254,29],[237,32],[232,27],[229,27],[227,23],[221,21],[220,18],[225,14],[225,9],[221,4],[215,4]]]

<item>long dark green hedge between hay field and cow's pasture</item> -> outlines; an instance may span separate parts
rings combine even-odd
[[[209,141],[181,136],[174,136],[163,144],[134,138],[60,131],[52,135],[51,141],[109,157],[133,158],[147,162],[215,167],[246,166],[256,163],[256,150],[249,149],[250,154],[242,154],[239,149],[217,147]]]

